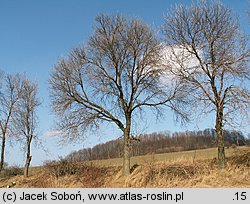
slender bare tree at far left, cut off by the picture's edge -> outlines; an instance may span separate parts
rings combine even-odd
[[[2,79],[0,93],[0,129],[2,136],[0,171],[3,169],[4,165],[6,137],[11,135],[14,136],[13,129],[11,128],[12,115],[22,91],[20,75],[3,74]]]

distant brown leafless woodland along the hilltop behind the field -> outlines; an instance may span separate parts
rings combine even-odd
[[[225,145],[242,146],[249,143],[240,131],[225,130]],[[186,132],[161,132],[143,134],[136,137],[131,144],[131,156],[146,154],[160,154],[169,152],[179,152],[187,150],[206,149],[216,147],[216,132],[214,129]],[[123,157],[123,139],[118,138],[103,144],[98,144],[93,148],[84,148],[72,152],[68,159],[77,161],[101,160]]]

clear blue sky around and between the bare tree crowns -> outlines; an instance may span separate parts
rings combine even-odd
[[[249,33],[246,10],[248,0],[224,0],[239,16],[242,29]],[[99,134],[88,134],[87,139],[75,144],[58,146],[58,138],[49,136],[53,129],[48,79],[53,64],[59,57],[67,55],[73,47],[84,43],[93,32],[93,22],[100,13],[121,13],[140,17],[155,29],[163,23],[163,14],[174,4],[190,4],[188,0],[0,0],[0,70],[7,73],[25,72],[39,83],[39,98],[43,102],[38,111],[39,137],[45,148],[33,146],[32,165],[57,159],[73,150],[105,142],[120,136],[113,126],[104,127]],[[166,111],[161,122],[148,115],[143,132],[185,131],[214,126],[214,119],[207,117],[199,125],[186,127],[173,122],[173,115]],[[150,124],[150,125],[149,125]],[[105,130],[104,130],[105,129]],[[101,134],[100,134],[101,133]],[[9,164],[24,163],[19,146],[8,145],[6,161]],[[45,149],[45,150],[44,150]]]

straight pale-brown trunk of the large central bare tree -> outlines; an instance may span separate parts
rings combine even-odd
[[[130,128],[131,117],[126,117],[126,128],[124,129],[124,155],[123,155],[123,175],[130,175]]]

